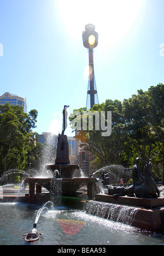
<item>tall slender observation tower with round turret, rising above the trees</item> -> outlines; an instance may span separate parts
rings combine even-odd
[[[83,45],[88,49],[89,54],[89,81],[87,86],[86,107],[90,109],[93,105],[98,104],[98,95],[96,88],[95,72],[93,67],[93,49],[98,45],[98,33],[95,26],[87,24],[82,34]]]

